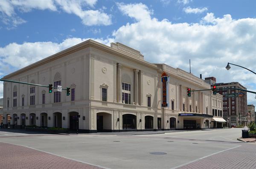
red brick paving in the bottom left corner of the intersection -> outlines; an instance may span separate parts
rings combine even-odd
[[[24,146],[0,142],[1,169],[101,169]]]

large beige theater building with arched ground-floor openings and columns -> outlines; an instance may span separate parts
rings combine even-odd
[[[168,106],[162,107],[161,74],[169,76]],[[6,80],[70,88],[48,88],[4,82],[3,125],[120,132],[222,127],[222,95],[204,80],[166,64],[144,60],[121,43],[105,46],[87,40],[6,75]],[[7,117],[11,117],[7,123]]]

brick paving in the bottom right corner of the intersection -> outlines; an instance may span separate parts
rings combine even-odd
[[[208,156],[178,169],[256,169],[256,146],[239,143],[240,147]]]

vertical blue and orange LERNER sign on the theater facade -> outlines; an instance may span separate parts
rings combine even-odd
[[[162,103],[162,107],[167,107],[169,106],[169,77],[166,74],[166,72],[162,73],[161,76],[162,79],[162,91],[163,91],[163,103]]]

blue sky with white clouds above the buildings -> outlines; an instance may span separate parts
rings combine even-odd
[[[191,59],[195,76],[256,92],[255,74],[225,69],[256,72],[255,9],[255,0],[0,0],[0,78],[93,39],[187,72]]]

